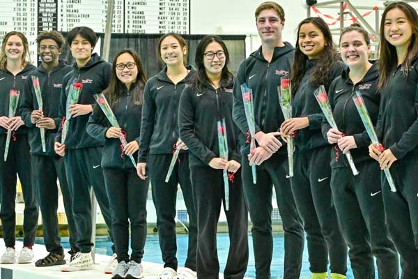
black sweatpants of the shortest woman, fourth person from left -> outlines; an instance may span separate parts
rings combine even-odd
[[[146,199],[149,181],[140,179],[137,169],[103,168],[104,183],[112,213],[111,227],[118,262],[141,262],[146,240]],[[131,257],[129,250],[131,229]]]

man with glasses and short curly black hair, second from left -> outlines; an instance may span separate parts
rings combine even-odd
[[[49,255],[36,262],[36,266],[52,266],[65,264],[64,251],[58,234],[58,186],[63,194],[65,214],[70,231],[70,254],[77,252],[75,244],[76,230],[71,210],[71,195],[68,188],[63,158],[54,152],[54,138],[61,124],[59,118],[59,100],[62,80],[70,70],[65,61],[59,59],[61,47],[65,40],[61,33],[49,31],[40,33],[36,38],[41,65],[33,70],[24,85],[20,114],[26,126],[29,127],[29,145],[31,146],[31,165],[33,184],[38,190],[44,241]],[[39,110],[32,77],[38,77],[42,93],[42,110]],[[45,152],[42,151],[40,128],[45,129]]]

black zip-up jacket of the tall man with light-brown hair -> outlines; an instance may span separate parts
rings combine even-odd
[[[270,63],[264,59],[261,47],[242,61],[238,68],[233,86],[233,120],[240,128],[241,138],[247,138],[249,130],[242,102],[241,84],[246,83],[252,89],[256,133],[277,132],[284,121],[279,105],[277,86],[280,78],[290,73],[295,48],[290,43],[276,47]],[[249,153],[249,144],[242,144],[242,155]],[[281,147],[277,154],[287,156],[286,148]]]

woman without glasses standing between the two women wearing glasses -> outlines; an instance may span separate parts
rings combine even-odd
[[[142,108],[141,140],[137,172],[141,179],[150,176],[153,202],[157,212],[157,229],[164,261],[158,278],[196,278],[196,209],[190,183],[187,146],[178,137],[178,100],[196,72],[185,66],[187,45],[185,39],[168,33],[158,42],[158,55],[164,69],[146,83]],[[169,181],[165,182],[173,149],[181,149]],[[189,245],[185,268],[177,271],[176,199],[180,184],[189,214]]]

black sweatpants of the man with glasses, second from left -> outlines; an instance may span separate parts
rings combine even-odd
[[[74,216],[72,215],[72,197],[65,175],[64,160],[61,157],[33,155],[31,157],[33,171],[33,185],[38,192],[38,202],[42,213],[42,227],[45,247],[48,252],[62,253],[61,238],[58,232],[58,185],[63,194],[65,215],[68,221],[70,232],[71,250],[78,251],[76,240],[77,230],[75,229]]]

